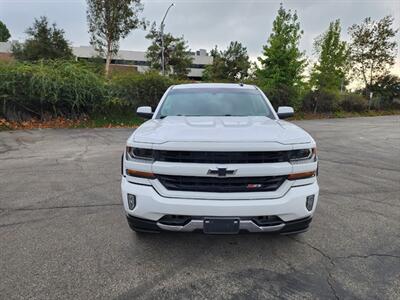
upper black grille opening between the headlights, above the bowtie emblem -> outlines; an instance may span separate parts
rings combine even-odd
[[[155,150],[155,160],[182,163],[276,163],[289,161],[290,151],[269,152],[209,152]]]

